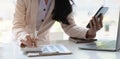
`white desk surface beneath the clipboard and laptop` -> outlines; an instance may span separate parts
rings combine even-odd
[[[68,40],[51,41],[51,44],[63,44],[73,52],[71,55],[55,55],[27,57],[20,48],[14,44],[0,45],[0,59],[119,59],[120,52],[80,50],[80,44]]]

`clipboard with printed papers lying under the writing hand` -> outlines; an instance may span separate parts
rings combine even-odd
[[[72,54],[72,52],[70,50],[68,50],[62,44],[58,44],[58,45],[41,45],[41,46],[38,46],[38,49],[37,48],[25,48],[25,49],[22,49],[22,50],[24,52],[25,51],[28,52],[27,55],[29,57]]]

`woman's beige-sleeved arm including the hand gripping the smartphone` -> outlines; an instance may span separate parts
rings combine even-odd
[[[74,20],[73,20],[73,16],[72,15],[69,15],[68,16],[68,20],[70,22],[70,25],[65,25],[65,24],[62,24],[62,28],[64,29],[64,31],[70,36],[70,37],[76,37],[76,38],[95,38],[96,36],[96,32],[98,30],[100,30],[102,28],[102,18],[101,17],[101,27],[97,27],[96,25],[99,25],[99,24],[96,24],[98,23],[98,21],[93,21],[94,18],[90,21],[90,23],[93,25],[90,25],[91,28],[90,29],[87,29],[87,28],[83,28],[83,27],[78,27]],[[96,18],[97,20],[98,18]]]

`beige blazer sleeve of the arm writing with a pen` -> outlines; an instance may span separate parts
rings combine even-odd
[[[27,40],[26,36],[29,35],[26,31],[26,4],[25,0],[17,0],[12,32],[14,39],[21,45],[21,40]]]

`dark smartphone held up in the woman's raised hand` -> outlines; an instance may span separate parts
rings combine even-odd
[[[103,6],[101,6],[100,8],[99,8],[99,10],[95,13],[95,15],[94,15],[94,17],[100,17],[101,15],[105,15],[105,13],[108,11],[108,7],[103,7]],[[99,20],[99,19],[98,19]],[[90,28],[90,24],[88,23],[88,25],[86,26],[87,28]]]

